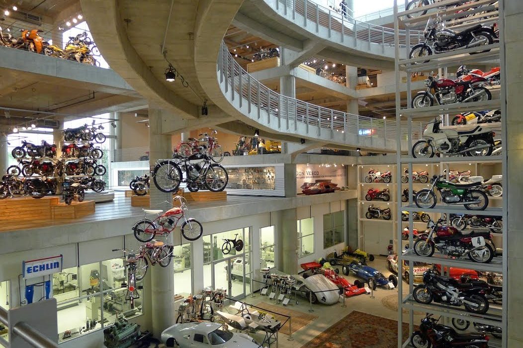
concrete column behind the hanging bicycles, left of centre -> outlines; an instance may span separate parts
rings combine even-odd
[[[165,111],[149,108],[149,163],[153,167],[158,159],[172,157],[170,149],[170,135],[162,134],[162,123]],[[163,193],[151,183],[152,209],[170,209],[172,206],[166,201],[172,201],[171,193]],[[173,243],[173,231],[168,237],[168,243]],[[160,337],[163,330],[174,323],[173,294],[174,273],[172,267],[151,267],[151,311],[153,335]]]

